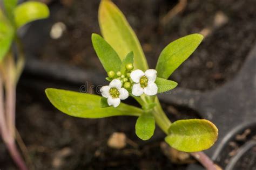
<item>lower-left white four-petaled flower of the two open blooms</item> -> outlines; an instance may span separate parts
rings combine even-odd
[[[107,104],[113,105],[114,108],[118,107],[120,100],[125,100],[129,96],[128,91],[122,88],[122,82],[118,79],[112,80],[109,86],[103,86],[100,92],[107,98]]]

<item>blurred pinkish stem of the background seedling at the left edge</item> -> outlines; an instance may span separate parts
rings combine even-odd
[[[11,54],[8,54],[2,61],[0,71],[0,126],[2,138],[18,168],[21,170],[26,170],[28,168],[26,168],[26,165],[15,144],[16,70],[15,62]],[[3,79],[5,80],[5,86],[3,86]],[[4,97],[4,87],[6,98]],[[4,98],[6,100],[5,108]]]

